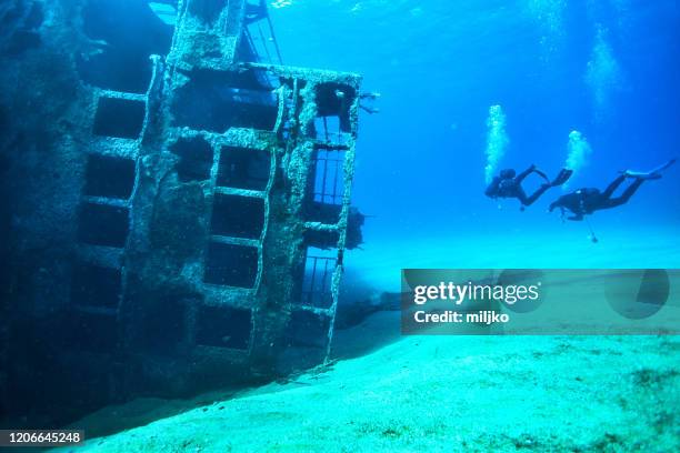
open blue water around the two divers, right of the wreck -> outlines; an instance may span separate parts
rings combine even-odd
[[[560,189],[527,212],[512,201],[499,210],[484,198],[492,104],[502,105],[510,139],[501,168],[536,163],[556,174],[569,132],[587,138],[593,153],[573,189],[604,189],[618,170],[680,155],[678,1],[270,3],[286,64],[360,72],[364,89],[382,94],[381,112],[361,117],[353,187],[353,203],[374,215],[364,231],[367,253],[371,243],[428,234],[481,232],[502,241],[508,231],[537,232],[566,248],[571,232],[586,234],[584,224],[546,213]],[[680,225],[679,195],[676,165],[592,223],[623,241],[644,243],[641,231],[670,238]]]

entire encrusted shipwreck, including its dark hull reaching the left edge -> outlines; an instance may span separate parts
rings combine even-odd
[[[2,37],[16,77],[1,82],[32,73],[54,91],[26,118],[18,94],[1,104],[3,125],[24,131],[1,143],[9,414],[321,363],[343,252],[360,241],[359,76],[283,66],[263,2],[104,3],[0,11],[16,30]],[[132,46],[110,28],[126,14]],[[22,355],[27,341],[44,356]],[[49,396],[27,396],[44,374]]]

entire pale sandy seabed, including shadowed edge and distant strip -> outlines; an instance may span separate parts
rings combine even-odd
[[[506,266],[677,266],[677,235],[626,239],[612,233],[598,249],[582,240],[568,248],[536,238],[516,238],[512,248],[479,242],[467,266],[492,265],[489,256]],[[368,292],[394,291],[401,266],[452,266],[459,244],[439,241],[447,246],[422,253],[432,241],[367,248],[354,276],[368,280]],[[349,275],[353,283],[360,292]],[[338,331],[333,349],[338,360],[328,366],[204,396],[191,409],[137,401],[101,411],[74,426],[90,437],[118,433],[71,450],[680,451],[680,336],[401,336],[399,312],[378,312]]]

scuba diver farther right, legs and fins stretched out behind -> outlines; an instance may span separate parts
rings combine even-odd
[[[568,217],[567,220],[581,221],[583,220],[583,215],[592,214],[594,211],[626,204],[628,200],[630,200],[630,198],[637,192],[637,190],[640,189],[640,185],[642,185],[644,181],[660,179],[661,171],[668,169],[674,162],[676,160],[671,159],[663,165],[660,165],[649,172],[623,171],[621,172],[620,177],[613,180],[607,187],[607,189],[604,189],[604,192],[600,192],[600,190],[596,188],[583,188],[562,195],[550,204],[550,212],[552,212],[556,208],[559,208],[562,215],[564,215],[564,210],[569,210],[573,213],[573,215]],[[633,179],[634,182],[632,182],[620,197],[612,198],[611,195],[613,192],[628,178]]]

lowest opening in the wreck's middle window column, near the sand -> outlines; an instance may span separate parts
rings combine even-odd
[[[251,310],[203,305],[198,311],[196,343],[203,346],[248,350]]]

